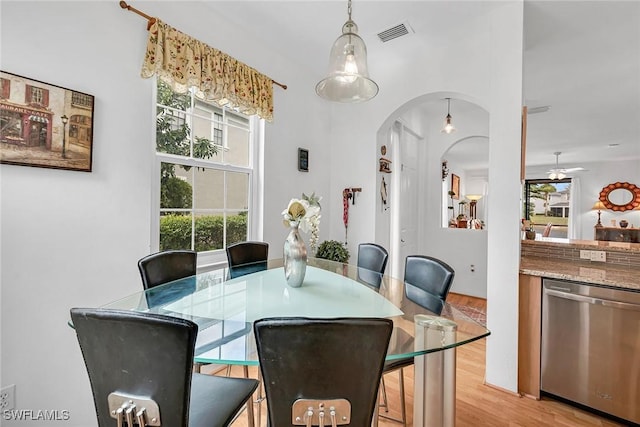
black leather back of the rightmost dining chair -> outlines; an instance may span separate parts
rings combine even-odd
[[[437,258],[409,255],[404,267],[404,289],[408,299],[440,314],[451,289],[455,272]]]

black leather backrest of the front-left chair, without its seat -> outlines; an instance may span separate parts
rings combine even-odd
[[[115,427],[107,396],[153,399],[163,426],[186,427],[198,326],[184,319],[124,310],[71,309],[89,374],[99,427]]]

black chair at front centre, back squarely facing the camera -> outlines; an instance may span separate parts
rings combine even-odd
[[[253,328],[268,426],[371,425],[390,319],[269,318]]]

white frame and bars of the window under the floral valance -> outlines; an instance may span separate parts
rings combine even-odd
[[[247,240],[262,240],[262,205],[261,201],[263,200],[263,184],[262,184],[262,170],[263,170],[263,145],[264,145],[264,120],[258,118],[257,116],[246,116],[248,119],[248,132],[249,132],[249,148],[248,148],[248,165],[247,166],[237,166],[230,165],[226,162],[225,155],[222,155],[222,162],[219,161],[211,161],[207,159],[200,159],[193,157],[193,145],[190,149],[190,157],[180,156],[169,153],[162,153],[156,150],[156,114],[157,114],[157,81],[154,79],[153,85],[153,94],[152,94],[152,135],[150,150],[152,155],[152,167],[151,167],[151,251],[157,252],[160,250],[160,176],[161,176],[161,165],[162,163],[174,163],[177,165],[185,165],[190,167],[200,167],[207,169],[220,170],[223,172],[236,172],[248,174],[248,200],[247,200]],[[195,98],[192,99],[191,109],[195,106]],[[222,111],[222,126],[224,128],[225,115],[229,111],[225,107],[220,107]],[[193,112],[192,114],[196,114]],[[213,114],[213,113],[212,113]],[[233,114],[241,114],[233,111]],[[190,120],[187,119],[187,123]],[[212,121],[212,123],[217,123],[216,121]],[[234,126],[233,121],[231,123],[227,123],[227,126]],[[237,126],[236,126],[237,127]],[[213,128],[213,127],[212,127]],[[192,129],[192,128],[191,128]],[[218,145],[218,149],[222,151],[228,151],[229,148],[227,146],[227,134],[228,132],[223,131],[223,141],[222,145]],[[213,140],[212,140],[213,141]],[[195,187],[194,187],[195,189]],[[235,211],[236,209],[229,209],[226,207],[227,202],[227,184],[225,181],[224,184],[224,202],[225,206],[221,210],[225,215],[229,214],[231,211]],[[191,207],[190,211],[195,214],[198,209],[194,206]],[[224,230],[226,234],[226,227]],[[192,243],[193,243],[192,236]],[[224,236],[224,242],[226,244],[226,235]],[[222,249],[215,249],[211,251],[203,251],[198,253],[198,267],[206,268],[206,267],[214,267],[225,264],[227,261],[226,258],[226,247]]]

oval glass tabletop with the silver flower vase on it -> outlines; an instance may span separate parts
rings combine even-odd
[[[253,322],[265,317],[386,317],[387,360],[459,346],[489,335],[446,303],[439,315],[405,297],[404,283],[355,265],[308,260],[301,287],[287,285],[283,260],[221,268],[140,291],[102,306],[160,313],[198,325],[196,362],[257,365]]]

